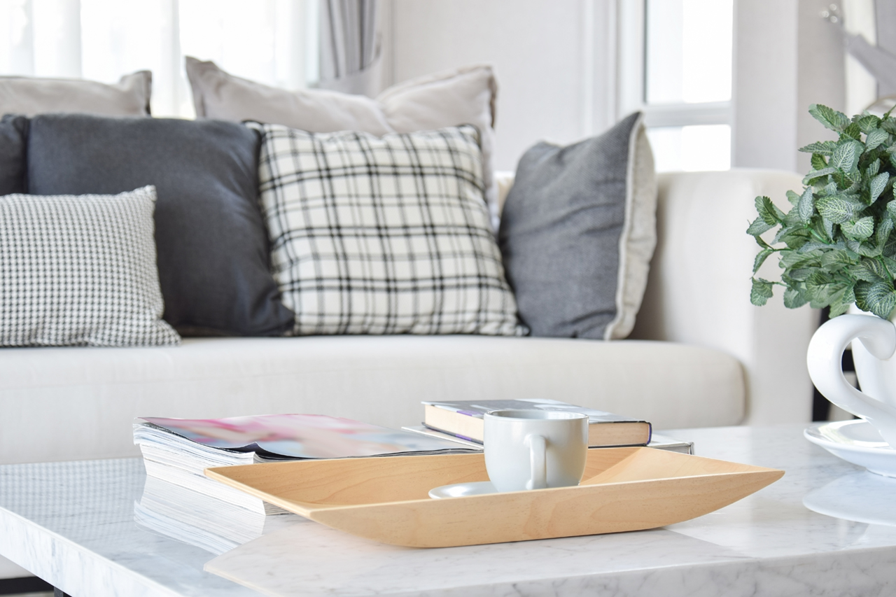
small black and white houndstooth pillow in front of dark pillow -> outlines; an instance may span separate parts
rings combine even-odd
[[[156,190],[0,196],[0,346],[177,344],[161,319]]]

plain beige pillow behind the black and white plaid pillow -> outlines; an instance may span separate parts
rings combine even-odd
[[[254,120],[311,133],[414,133],[474,125],[480,134],[483,183],[497,215],[492,154],[497,83],[491,66],[474,65],[393,85],[375,99],[338,91],[286,91],[235,77],[213,62],[186,56],[198,118]]]

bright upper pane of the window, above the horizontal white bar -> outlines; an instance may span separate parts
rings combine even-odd
[[[648,104],[731,99],[733,0],[647,0]]]

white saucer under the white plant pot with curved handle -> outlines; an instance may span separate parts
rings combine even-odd
[[[866,420],[819,423],[807,428],[803,435],[848,463],[864,466],[884,477],[896,477],[896,450]]]

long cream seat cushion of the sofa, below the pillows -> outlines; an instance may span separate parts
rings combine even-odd
[[[422,400],[553,398],[661,429],[737,424],[744,396],[736,359],[672,342],[309,336],[4,349],[0,463],[137,455],[139,416],[307,412],[401,427],[419,424]]]

